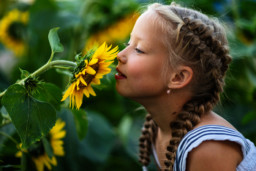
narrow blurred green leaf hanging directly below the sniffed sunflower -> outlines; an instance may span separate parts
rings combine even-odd
[[[86,137],[87,129],[88,129],[88,118],[86,111],[84,110],[72,110],[70,109],[70,112],[74,115],[75,120],[75,129],[78,134],[78,139],[83,140],[84,137]]]

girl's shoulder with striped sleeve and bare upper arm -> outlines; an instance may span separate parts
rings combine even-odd
[[[251,148],[253,150],[250,151]],[[220,168],[225,167],[225,170],[235,170],[248,158],[249,152],[256,159],[255,145],[235,129],[214,124],[203,125],[188,132],[181,140],[174,167],[176,171],[184,171],[186,167],[195,167],[197,170],[222,170]],[[256,162],[250,162],[256,168]]]

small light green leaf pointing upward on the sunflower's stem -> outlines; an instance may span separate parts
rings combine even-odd
[[[57,34],[58,29],[59,27],[51,29],[48,35],[52,53],[62,52],[64,50],[63,46],[59,42],[59,36]]]

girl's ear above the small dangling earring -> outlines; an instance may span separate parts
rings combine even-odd
[[[170,75],[168,88],[183,88],[192,80],[193,71],[189,66],[179,66],[177,72]]]

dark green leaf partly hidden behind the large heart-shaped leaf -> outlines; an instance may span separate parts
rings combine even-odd
[[[39,94],[34,94],[34,98],[43,102],[49,102],[56,110],[61,110],[61,88],[53,83],[45,83],[43,86],[40,87],[41,88],[37,89]]]

